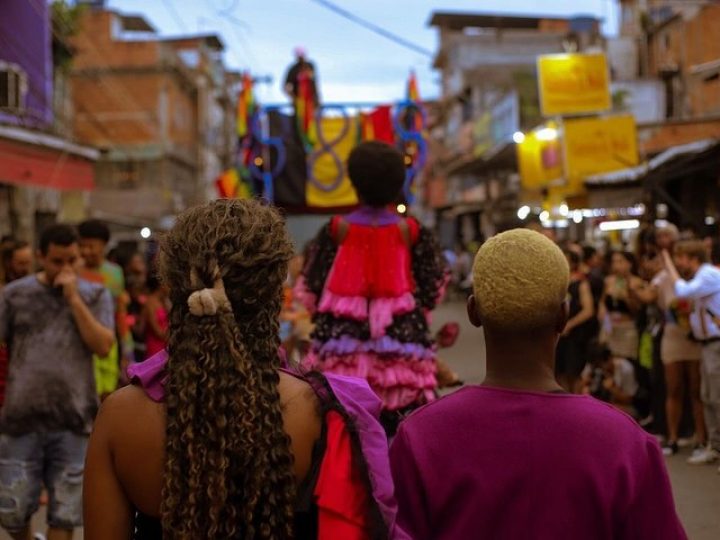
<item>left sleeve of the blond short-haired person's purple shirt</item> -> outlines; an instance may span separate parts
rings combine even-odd
[[[414,540],[432,539],[422,475],[402,426],[390,446],[390,468],[398,502],[398,525]]]

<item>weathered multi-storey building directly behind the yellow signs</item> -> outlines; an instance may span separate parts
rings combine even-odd
[[[537,57],[602,50],[604,39],[600,21],[588,17],[437,12],[430,25],[440,37],[434,66],[442,78],[442,112],[427,184],[451,247],[517,224],[513,135],[542,121]]]

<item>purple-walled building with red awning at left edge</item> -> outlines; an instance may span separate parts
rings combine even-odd
[[[0,17],[0,236],[33,242],[76,221],[98,152],[77,144],[64,107],[62,29],[42,0],[6,0]],[[33,36],[33,39],[28,39]],[[57,90],[57,91],[56,91]]]

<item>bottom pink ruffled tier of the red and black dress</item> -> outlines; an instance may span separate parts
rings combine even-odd
[[[303,361],[307,369],[367,380],[386,409],[402,409],[435,399],[436,366],[432,360],[405,361],[373,353],[318,357],[314,352]]]

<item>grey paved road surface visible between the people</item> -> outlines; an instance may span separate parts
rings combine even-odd
[[[482,332],[467,322],[464,305],[460,302],[442,305],[435,313],[434,326],[448,321],[461,325],[457,344],[443,351],[443,358],[468,383],[482,382],[485,377],[485,348]],[[668,459],[675,501],[691,540],[720,538],[720,474],[717,467],[691,467],[685,463],[688,450]],[[40,516],[36,520],[42,523]],[[81,540],[82,534],[75,535]],[[10,538],[0,531],[0,540]]]

